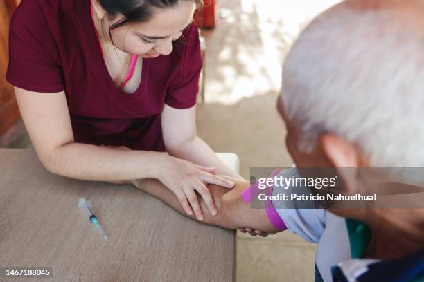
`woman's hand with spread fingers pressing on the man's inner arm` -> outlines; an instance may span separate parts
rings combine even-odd
[[[213,203],[211,193],[205,184],[214,184],[225,188],[233,188],[235,185],[230,180],[213,175],[214,172],[214,167],[202,167],[186,160],[166,156],[166,159],[161,162],[161,169],[157,178],[173,191],[188,215],[193,215],[194,210],[197,220],[204,220],[204,214],[195,191],[202,196],[209,213],[215,216],[218,214],[218,209]]]

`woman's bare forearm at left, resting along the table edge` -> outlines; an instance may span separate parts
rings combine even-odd
[[[71,143],[53,150],[42,162],[52,173],[80,180],[113,181],[157,178],[166,153],[125,151]]]

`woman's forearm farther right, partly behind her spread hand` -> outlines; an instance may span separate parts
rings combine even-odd
[[[211,147],[198,137],[188,140],[178,147],[168,148],[168,151],[170,155],[177,158],[182,158],[204,167],[215,167],[216,174],[244,180],[235,171],[227,167],[220,158],[216,156]]]

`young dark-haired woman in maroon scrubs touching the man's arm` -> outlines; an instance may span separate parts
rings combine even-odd
[[[217,214],[204,183],[231,188],[214,173],[236,175],[196,135],[201,2],[21,2],[6,78],[46,169],[82,180],[157,178],[187,214],[204,218],[195,191]]]

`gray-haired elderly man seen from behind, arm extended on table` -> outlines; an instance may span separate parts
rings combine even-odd
[[[345,1],[310,23],[278,101],[297,167],[424,167],[423,26],[418,0]],[[160,182],[134,185],[184,214]],[[317,281],[424,281],[424,209],[251,209],[248,187],[209,185],[219,213],[204,222],[318,243]]]

